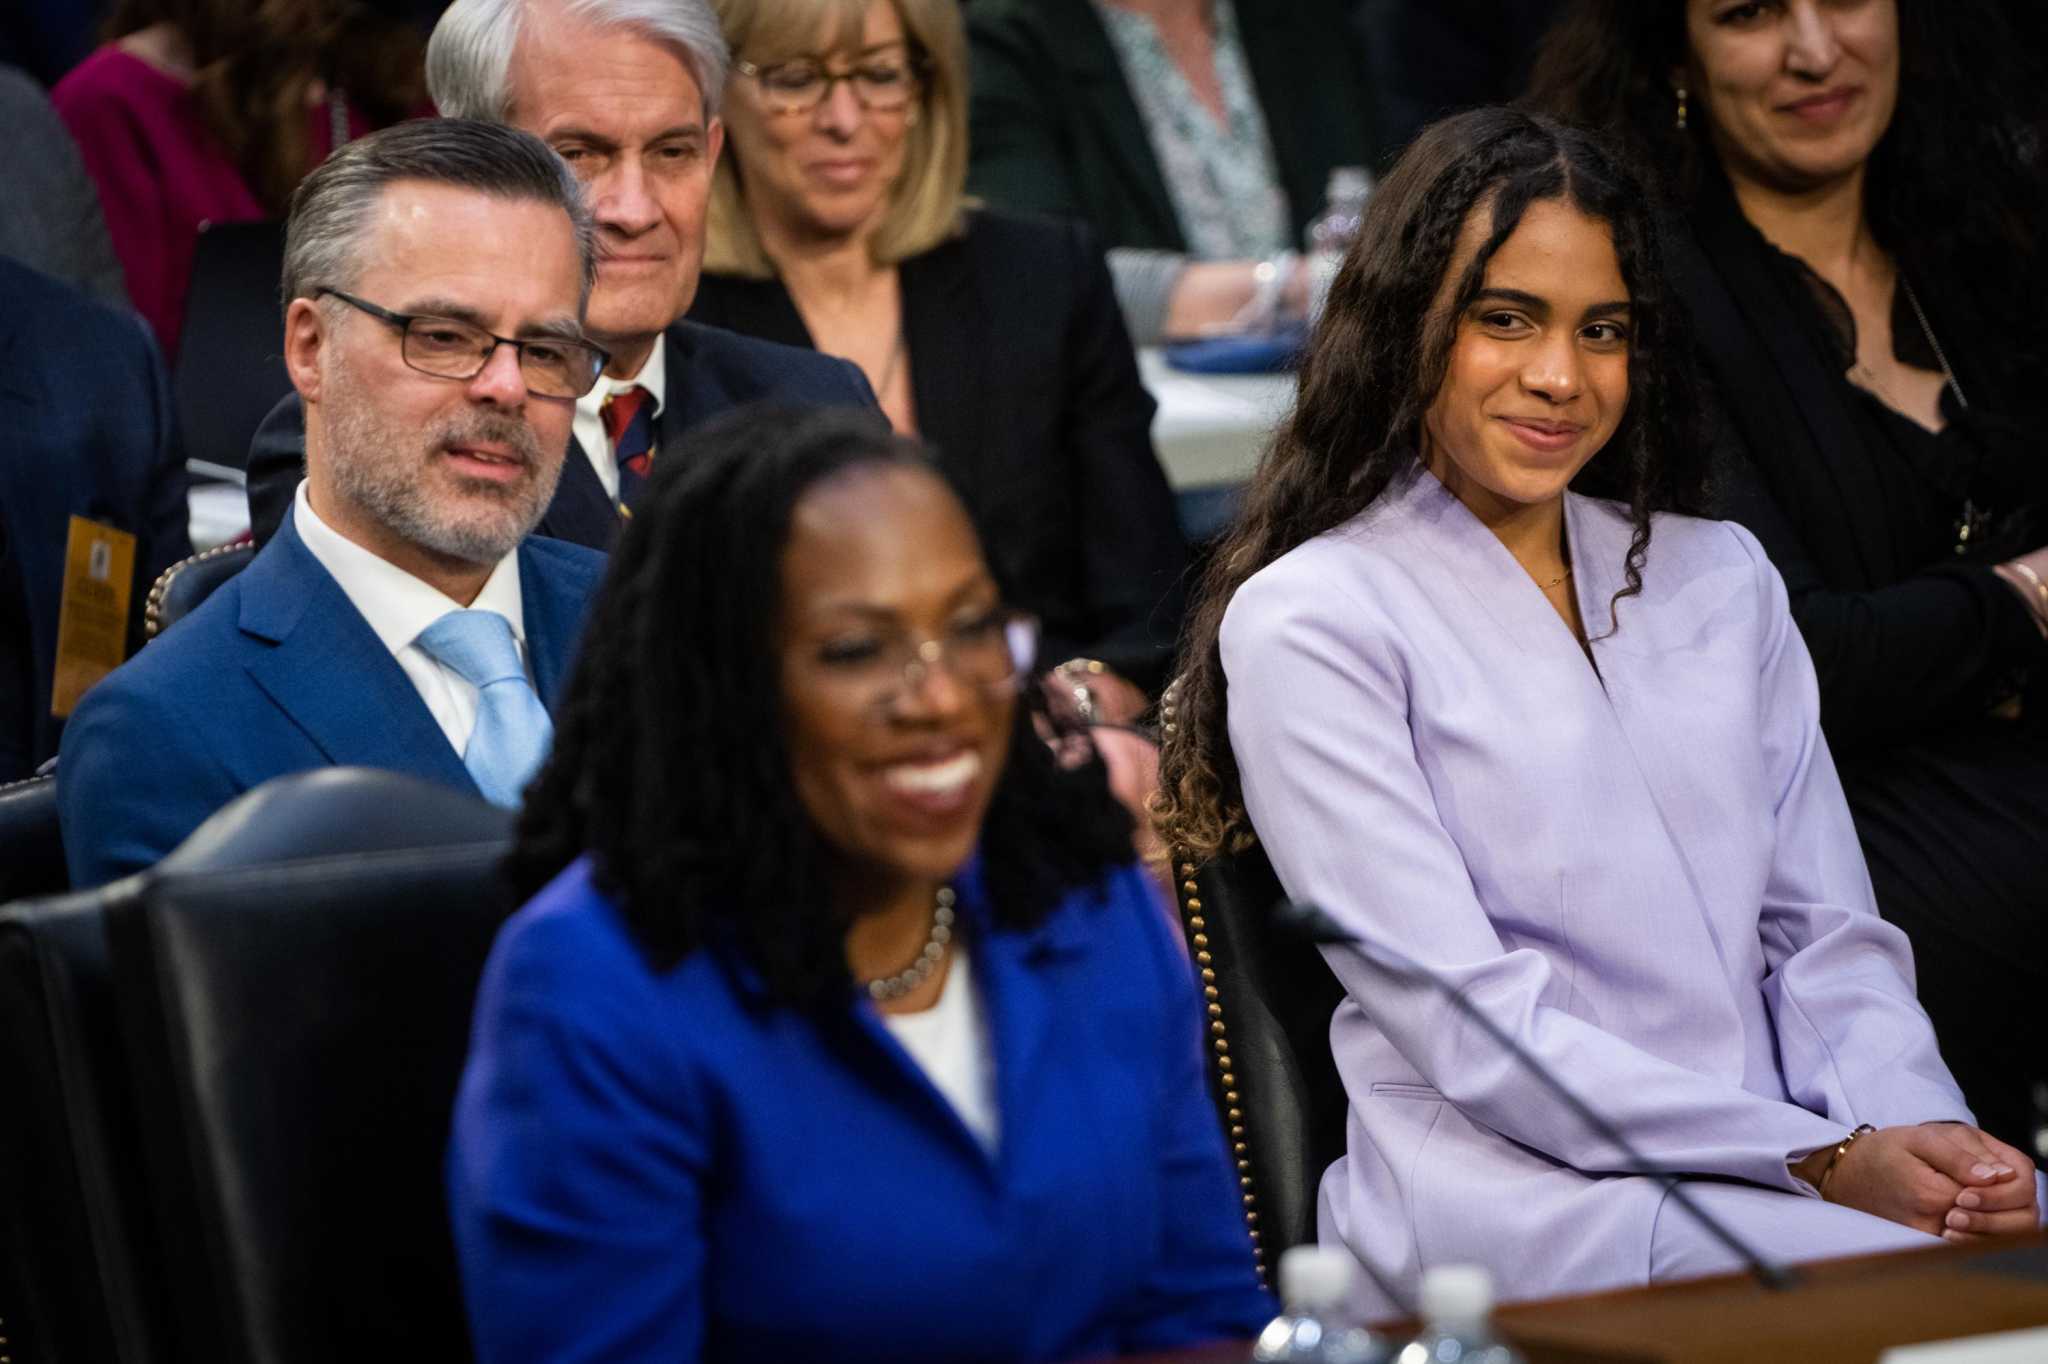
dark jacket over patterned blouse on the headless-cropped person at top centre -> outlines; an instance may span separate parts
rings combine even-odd
[[[1376,150],[1356,31],[1337,0],[1237,0],[1251,84],[1298,242],[1329,172]],[[973,166],[997,209],[1079,217],[1104,246],[1188,250],[1116,49],[1090,0],[975,0]]]

